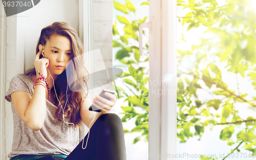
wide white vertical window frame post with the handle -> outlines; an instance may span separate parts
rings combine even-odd
[[[176,0],[152,0],[150,1],[149,21],[140,26],[140,30],[142,30],[143,27],[150,29],[149,82],[152,83],[148,85],[148,159],[159,159],[157,155],[160,154],[164,155],[164,158],[161,159],[165,159],[166,153],[168,153],[170,157],[173,155],[172,159],[176,159],[176,8]],[[140,52],[140,54],[142,53]],[[153,82],[157,82],[158,85],[153,86]],[[165,90],[167,90],[168,93],[165,93]],[[158,91],[162,94],[158,94]],[[151,158],[150,154],[152,155]]]

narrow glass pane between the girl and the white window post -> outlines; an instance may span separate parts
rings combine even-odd
[[[148,30],[143,32],[143,57],[138,41],[139,25],[148,21],[147,4],[118,0],[113,8],[113,67],[121,68],[125,76],[116,81],[116,113],[122,117],[128,160],[148,159]]]

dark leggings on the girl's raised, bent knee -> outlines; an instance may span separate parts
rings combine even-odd
[[[88,132],[89,133],[89,132]],[[86,147],[88,134],[84,138]],[[66,160],[126,160],[124,132],[121,119],[114,113],[101,115],[90,129],[86,149],[82,149],[82,141],[69,154]]]

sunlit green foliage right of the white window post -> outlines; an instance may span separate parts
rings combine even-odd
[[[237,88],[231,88],[223,78],[226,75],[243,77],[243,83],[256,90],[256,13],[251,6],[249,0],[177,0],[177,7],[184,9],[180,13],[185,15],[178,15],[178,25],[187,33],[197,32],[196,28],[204,31],[199,37],[201,43],[191,48],[177,48],[177,138],[180,143],[195,136],[201,138],[206,127],[222,125],[220,140],[227,141],[227,147],[236,146],[230,153],[240,152],[240,145],[256,153],[255,116],[251,113],[243,119],[236,109],[242,105],[244,110],[250,107],[255,111],[256,97],[241,93],[241,80],[230,78],[237,84]],[[181,36],[178,43],[189,43],[184,33]],[[193,65],[184,67],[182,64],[188,60],[193,60]],[[204,98],[198,90],[207,91],[211,96]],[[191,131],[190,127],[195,129]],[[234,130],[238,131],[237,135],[233,134]],[[201,155],[201,159],[211,158]]]

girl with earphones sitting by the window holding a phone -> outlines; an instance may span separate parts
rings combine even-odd
[[[35,67],[14,76],[5,95],[14,122],[11,160],[126,159],[121,119],[110,113],[116,96],[104,93],[110,100],[98,95],[91,102],[83,89],[88,79],[82,54],[82,42],[67,23],[41,30]],[[101,112],[89,111],[91,104]],[[79,143],[81,121],[90,130]]]

